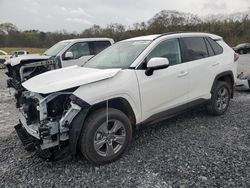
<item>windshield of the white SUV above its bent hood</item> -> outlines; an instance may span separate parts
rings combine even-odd
[[[93,57],[84,67],[127,69],[150,42],[151,41],[124,41],[116,43]]]

